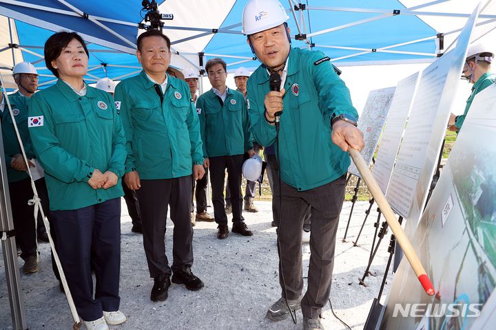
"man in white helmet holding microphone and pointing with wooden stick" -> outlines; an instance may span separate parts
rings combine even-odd
[[[280,162],[282,290],[267,318],[284,320],[290,310],[301,308],[304,330],[323,329],[319,316],[331,291],[335,236],[350,164],[347,151],[361,150],[364,142],[349,90],[329,57],[291,48],[287,19],[277,0],[250,0],[242,13],[243,34],[262,63],[247,84],[250,130],[262,146],[276,143]],[[280,91],[270,91],[271,74],[280,77]],[[302,296],[302,226],[309,207],[311,256],[307,292]]]

